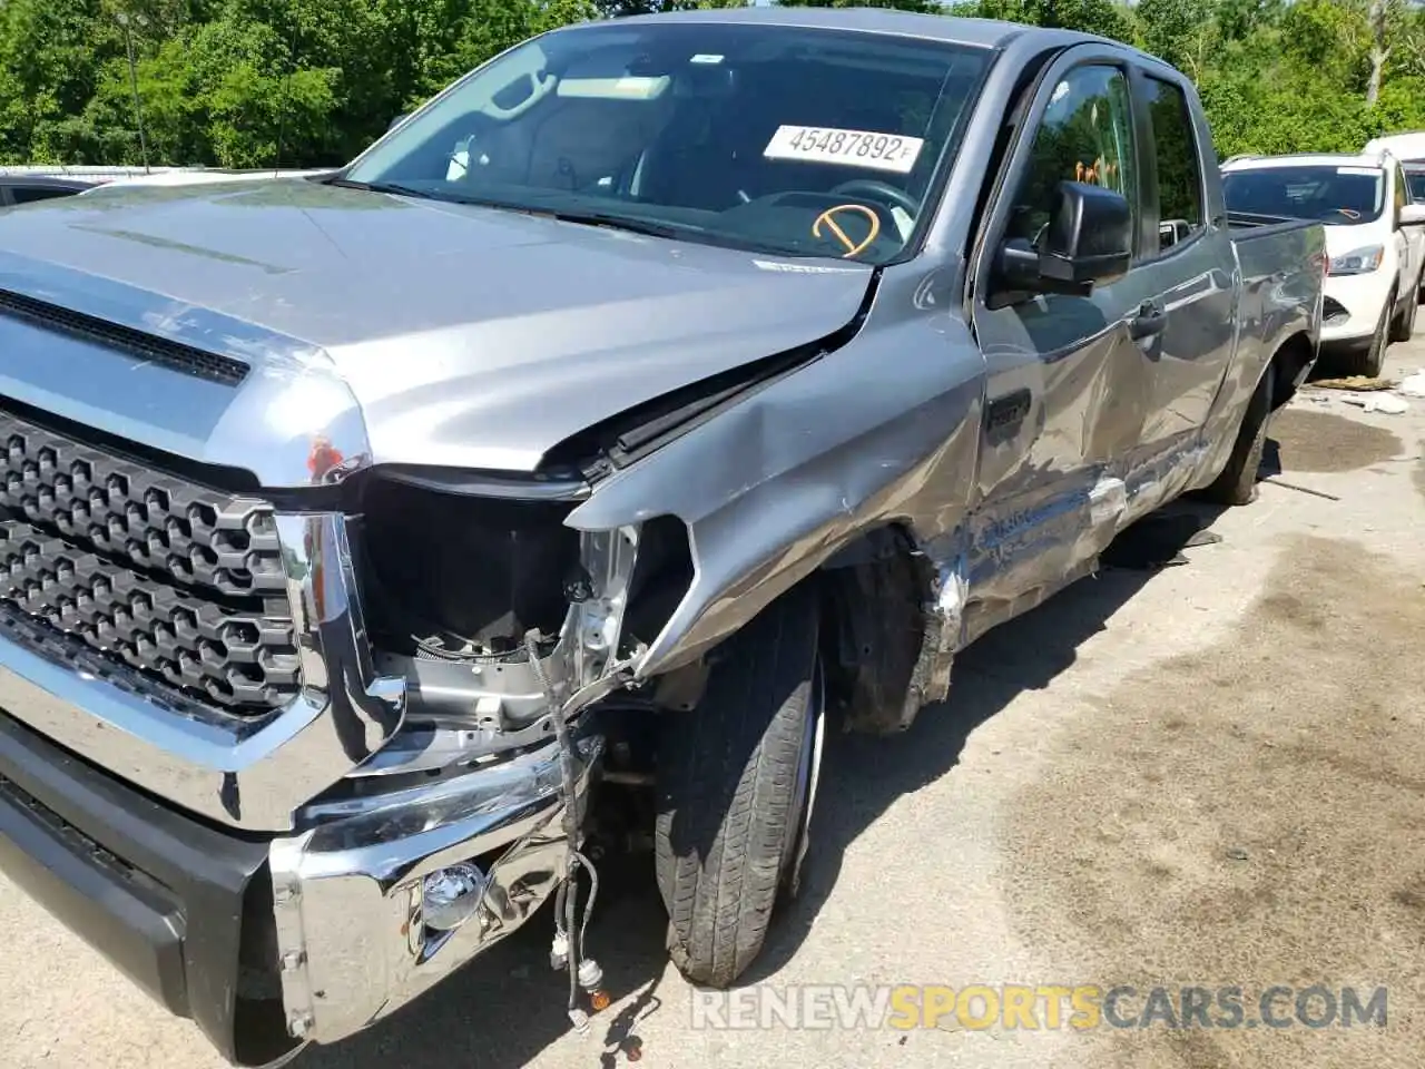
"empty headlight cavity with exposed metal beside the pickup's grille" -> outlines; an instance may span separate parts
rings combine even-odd
[[[633,681],[693,576],[674,517],[589,533],[564,526],[571,502],[389,479],[362,506],[353,553],[368,633],[380,671],[403,676],[409,694],[408,731],[365,775],[429,774],[549,741],[553,707],[616,671]]]

